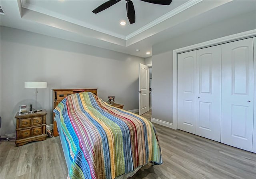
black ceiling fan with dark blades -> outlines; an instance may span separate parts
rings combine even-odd
[[[118,3],[121,0],[109,0],[100,6],[98,6],[96,9],[94,9],[92,12],[94,14],[97,14],[106,8],[109,8],[110,6],[113,6],[114,4]],[[134,6],[131,0],[126,0],[126,12],[127,12],[127,17],[129,19],[130,24],[133,24],[135,22],[135,10]],[[161,5],[170,5],[172,0],[141,0],[144,2],[150,2],[152,4],[161,4]]]

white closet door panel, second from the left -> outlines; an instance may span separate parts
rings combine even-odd
[[[196,135],[220,142],[221,46],[196,50]]]

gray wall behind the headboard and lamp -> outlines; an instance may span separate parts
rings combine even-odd
[[[25,81],[42,81],[37,108],[52,123],[52,90],[98,88],[105,101],[114,95],[124,109],[138,109],[138,69],[144,58],[1,26],[1,134],[14,133],[19,105],[34,107],[34,89]]]

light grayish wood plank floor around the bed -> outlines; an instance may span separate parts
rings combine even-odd
[[[151,119],[151,111],[143,115]],[[154,124],[163,165],[140,169],[130,179],[256,179],[256,154]],[[1,141],[1,179],[64,179],[68,175],[59,137],[15,147]]]

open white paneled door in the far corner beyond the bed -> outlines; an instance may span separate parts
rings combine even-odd
[[[149,70],[140,64],[139,70],[139,115],[149,111]]]

